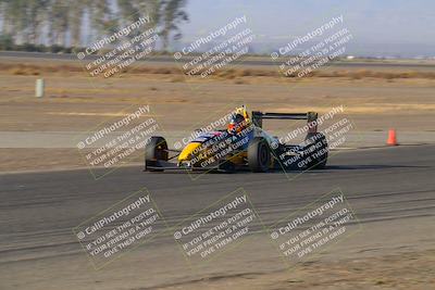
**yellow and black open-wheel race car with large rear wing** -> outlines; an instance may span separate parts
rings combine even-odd
[[[245,105],[228,114],[226,129],[199,130],[182,150],[169,149],[163,137],[153,136],[145,149],[145,171],[165,169],[213,171],[234,173],[250,169],[264,173],[276,169],[324,168],[327,162],[327,140],[318,133],[314,112],[251,112]],[[263,119],[307,119],[303,142],[288,144],[262,129]]]

